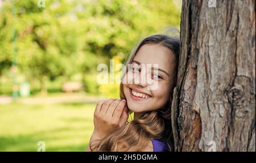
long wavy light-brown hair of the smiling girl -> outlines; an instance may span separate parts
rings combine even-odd
[[[177,38],[167,35],[153,35],[144,38],[135,47],[129,59],[126,61],[126,67],[130,64],[138,50],[144,44],[160,44],[172,51],[176,58],[174,80],[168,93],[168,100],[162,108],[154,111],[146,111],[137,119],[126,122],[126,125],[115,128],[109,132],[102,140],[95,140],[90,144],[92,151],[134,151],[139,152],[146,148],[148,140],[157,139],[166,142],[169,146],[169,151],[174,148],[172,128],[171,128],[171,101],[174,86],[176,85],[177,66],[179,65],[180,41]],[[124,75],[127,73],[124,71]],[[124,76],[123,75],[123,76]],[[123,93],[123,84],[120,84],[120,98],[126,99]],[[131,110],[128,110],[131,115]]]

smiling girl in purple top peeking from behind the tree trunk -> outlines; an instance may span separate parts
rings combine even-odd
[[[100,101],[96,106],[94,131],[86,151],[172,151],[171,101],[179,47],[178,39],[166,35],[139,42],[126,62],[129,68],[120,84],[121,100]],[[147,64],[152,66],[143,66]],[[142,71],[151,83],[142,82]],[[133,82],[123,82],[129,76]],[[133,120],[127,122],[133,112]]]

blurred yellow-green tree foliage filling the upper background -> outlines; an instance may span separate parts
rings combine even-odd
[[[180,8],[171,0],[47,0],[45,8],[34,0],[12,0],[2,5],[0,78],[10,73],[15,29],[18,73],[40,81],[41,88],[44,80],[95,74],[99,63],[115,55],[125,58],[141,38],[180,23]],[[89,85],[86,91],[98,91],[92,80],[82,81]]]

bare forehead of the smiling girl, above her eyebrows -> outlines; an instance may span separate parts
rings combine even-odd
[[[142,45],[134,60],[144,64],[158,64],[158,68],[167,72],[171,72],[175,65],[172,51],[160,44]]]

